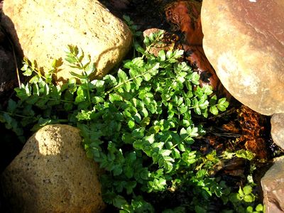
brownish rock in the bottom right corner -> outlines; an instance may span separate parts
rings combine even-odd
[[[273,166],[261,178],[266,212],[284,212],[284,156],[276,158]]]

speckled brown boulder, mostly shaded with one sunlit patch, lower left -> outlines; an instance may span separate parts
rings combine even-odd
[[[28,139],[1,185],[11,212],[102,212],[97,171],[78,129],[48,125]]]

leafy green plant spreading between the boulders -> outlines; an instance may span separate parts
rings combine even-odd
[[[127,17],[126,22],[138,36]],[[161,32],[146,37],[145,48],[134,39],[135,56],[102,80],[90,80],[96,72],[94,62],[73,45],[65,61],[82,74],[72,72],[74,77],[61,86],[53,82],[58,60],[43,74],[35,62],[25,59],[23,75],[30,80],[15,89],[16,97],[1,109],[0,121],[22,141],[28,129],[58,123],[77,126],[87,156],[105,170],[104,201],[117,211],[209,212],[217,202],[223,212],[262,212],[251,174],[236,190],[212,172],[222,159],[251,160],[252,153],[202,155],[192,148],[196,138],[206,134],[199,121],[225,111],[229,103],[217,99],[210,86],[200,87],[200,76],[180,61],[182,50],[152,55],[151,48],[161,38]],[[157,206],[153,197],[158,193],[187,197]]]

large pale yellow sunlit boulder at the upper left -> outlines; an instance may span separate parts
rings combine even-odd
[[[96,0],[4,1],[2,23],[18,50],[45,70],[54,59],[65,58],[67,45],[82,48],[96,62],[92,78],[106,75],[132,43],[126,24]],[[67,63],[60,69],[59,81],[74,72]]]

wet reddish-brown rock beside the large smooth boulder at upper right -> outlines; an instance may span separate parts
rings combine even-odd
[[[200,85],[209,84],[217,94],[230,97],[204,55],[200,9],[201,4],[197,1],[175,1],[165,11],[168,21],[178,26],[178,29],[185,35],[182,48],[185,50],[186,60],[200,74]]]

